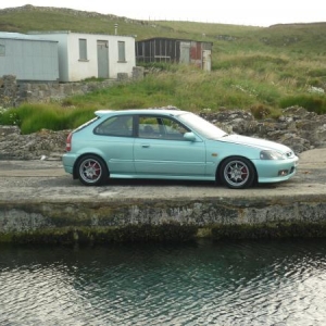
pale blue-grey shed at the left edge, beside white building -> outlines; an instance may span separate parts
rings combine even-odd
[[[14,75],[22,82],[57,82],[58,41],[0,32],[0,76],[3,75]]]

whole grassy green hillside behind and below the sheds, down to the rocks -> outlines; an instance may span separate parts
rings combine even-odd
[[[326,23],[269,27],[195,22],[136,21],[96,12],[25,5],[0,10],[0,30],[72,30],[171,37],[213,42],[212,72],[160,66],[145,80],[68,103],[77,108],[176,105],[199,111],[250,109],[258,116],[289,105],[326,112]],[[263,112],[263,113],[262,113]]]

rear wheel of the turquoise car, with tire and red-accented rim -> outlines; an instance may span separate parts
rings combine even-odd
[[[85,155],[77,164],[77,176],[86,186],[100,186],[109,178],[104,161],[97,155]]]

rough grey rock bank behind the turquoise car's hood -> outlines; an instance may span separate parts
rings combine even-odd
[[[317,115],[304,108],[284,109],[275,120],[256,121],[244,110],[222,110],[216,113],[204,110],[200,115],[226,133],[274,140],[289,146],[296,153],[326,147],[326,115]]]

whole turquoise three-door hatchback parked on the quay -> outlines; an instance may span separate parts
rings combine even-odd
[[[278,183],[296,173],[288,147],[228,135],[197,114],[179,110],[97,111],[72,131],[63,154],[66,173],[86,186],[108,178],[221,181],[234,189]]]

